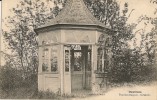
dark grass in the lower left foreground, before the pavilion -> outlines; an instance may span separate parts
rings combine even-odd
[[[69,100],[70,98],[83,97],[82,95],[63,95],[55,94],[49,90],[38,91],[35,87],[20,87],[12,90],[0,90],[0,99],[53,99]],[[85,96],[84,96],[85,97]]]

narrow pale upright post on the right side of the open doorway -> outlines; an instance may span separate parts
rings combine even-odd
[[[97,68],[97,46],[92,45],[92,93],[95,94],[96,92],[96,75],[95,75],[95,70]]]

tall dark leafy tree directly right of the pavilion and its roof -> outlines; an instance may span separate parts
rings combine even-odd
[[[109,77],[112,81],[127,81],[129,79],[127,73],[130,69],[130,64],[125,51],[128,50],[128,43],[126,41],[133,38],[132,30],[134,25],[127,24],[130,16],[128,13],[128,3],[124,4],[122,14],[120,7],[114,0],[87,0],[87,7],[93,15],[104,23],[111,30],[116,31],[112,37],[112,65],[109,67]],[[105,42],[105,41],[104,41]],[[126,77],[126,78],[125,78]]]

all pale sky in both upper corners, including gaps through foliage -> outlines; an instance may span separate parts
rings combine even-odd
[[[2,19],[11,15],[11,13],[9,12],[9,9],[16,7],[16,5],[18,4],[19,1],[20,0],[2,0]],[[127,2],[129,5],[129,12],[131,12],[131,10],[134,9],[134,11],[132,12],[132,14],[129,18],[128,23],[136,23],[138,18],[141,15],[147,15],[148,17],[156,17],[157,16],[157,15],[154,15],[156,5],[150,3],[150,0],[117,0],[117,1],[118,1],[119,5],[121,6],[121,9],[123,9],[123,5],[125,2]],[[136,30],[143,28],[143,27],[144,27],[144,24],[141,23],[138,25]],[[152,28],[151,25],[147,25],[146,30],[150,31],[151,28]],[[134,30],[134,31],[136,31],[136,30]],[[138,37],[138,35],[137,35],[137,37]],[[1,50],[7,51],[5,48],[5,44],[3,44],[3,37],[1,37]]]

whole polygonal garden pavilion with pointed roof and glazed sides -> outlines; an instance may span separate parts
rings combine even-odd
[[[67,0],[56,18],[35,31],[39,37],[39,90],[62,95],[106,88],[102,83],[111,63],[112,32],[83,0]]]

